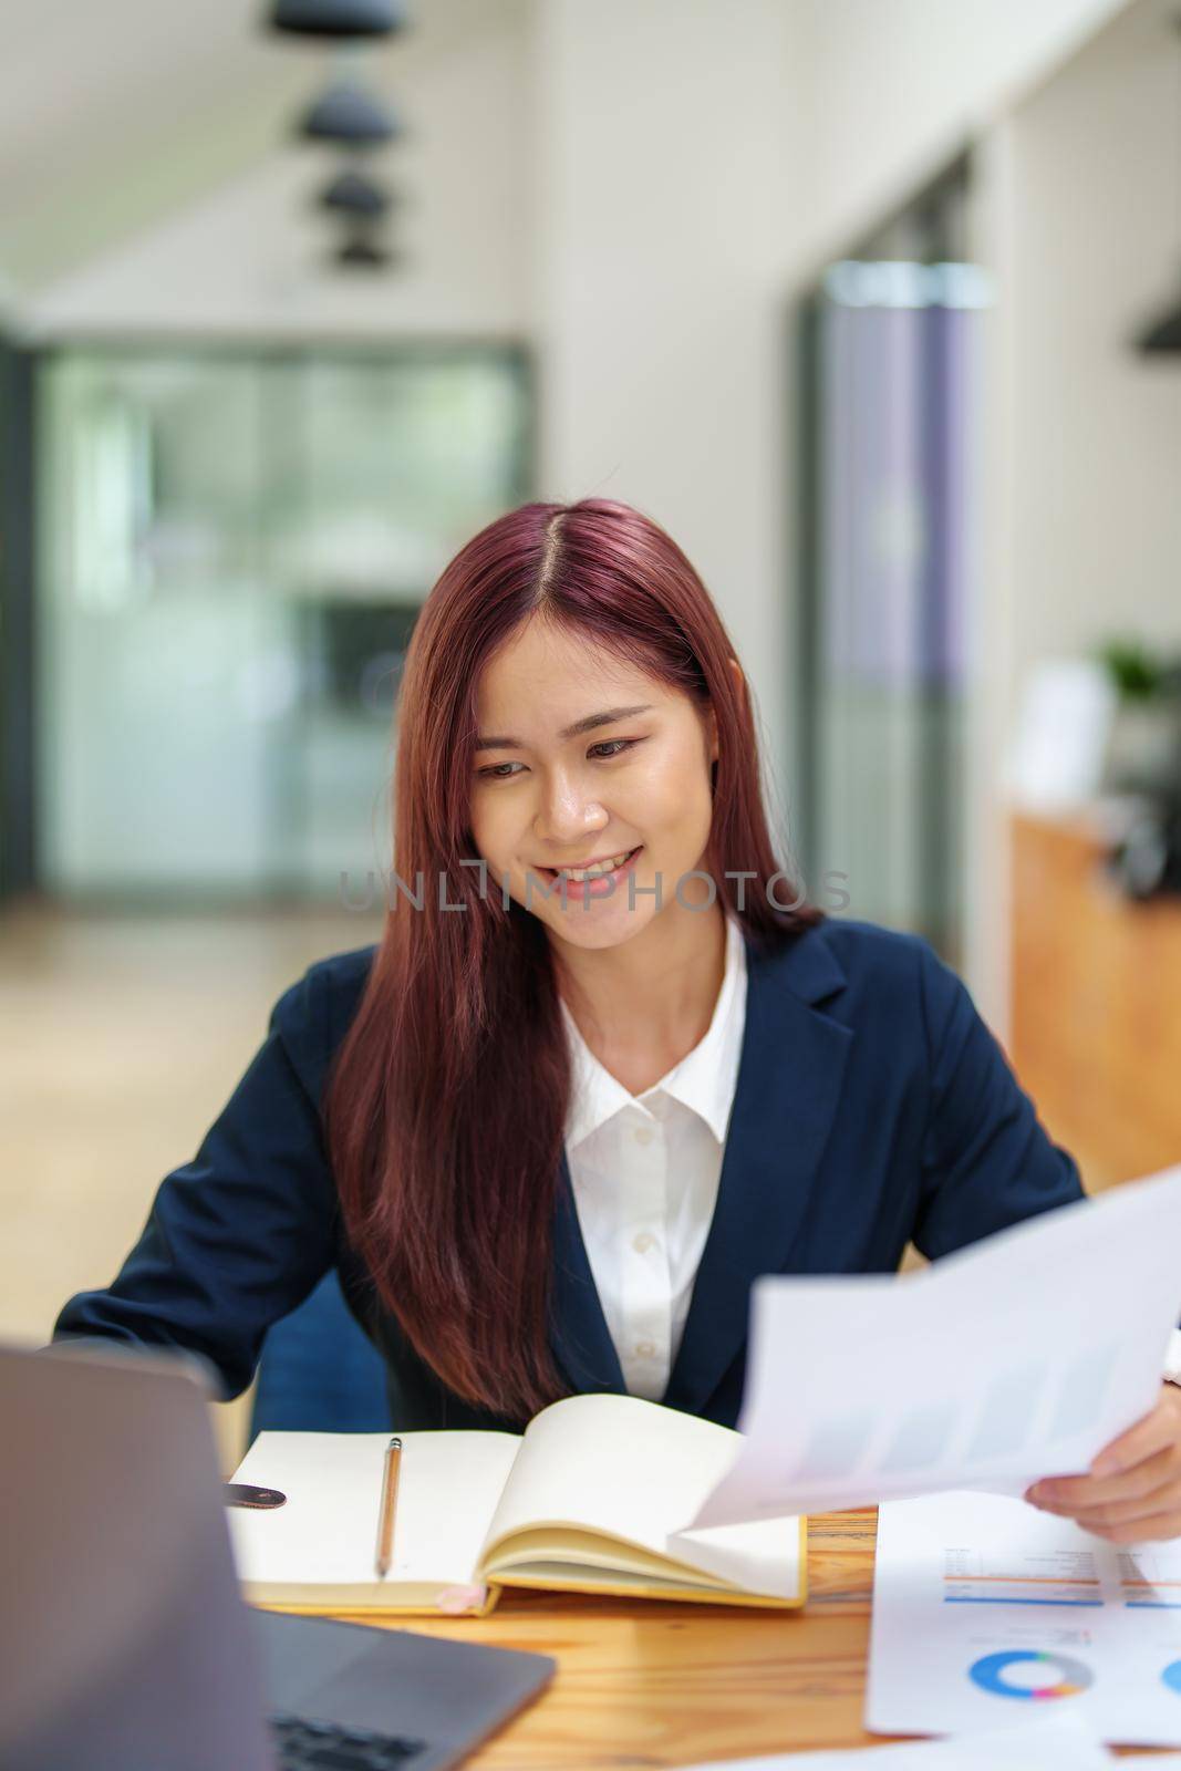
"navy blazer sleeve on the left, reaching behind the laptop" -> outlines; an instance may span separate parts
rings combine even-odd
[[[317,1100],[326,1040],[324,983],[312,967],[274,1004],[262,1047],[193,1160],[161,1181],[117,1277],[71,1298],[53,1341],[195,1353],[223,1399],[246,1388],[269,1325],[335,1261],[336,1188]]]

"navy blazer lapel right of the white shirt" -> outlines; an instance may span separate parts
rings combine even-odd
[[[717,1206],[664,1394],[687,1413],[701,1411],[745,1341],[753,1280],[784,1270],[841,1096],[852,1029],[814,1004],[843,988],[845,972],[816,933],[774,956],[745,944],[745,1029]]]

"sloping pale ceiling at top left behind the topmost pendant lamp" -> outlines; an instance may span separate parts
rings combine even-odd
[[[367,46],[390,92],[522,0],[416,0]],[[333,66],[260,0],[0,0],[0,296],[19,306],[274,151]],[[336,51],[338,53],[338,51]]]

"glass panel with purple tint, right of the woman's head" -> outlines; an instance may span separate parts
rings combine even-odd
[[[979,310],[965,168],[804,312],[799,749],[806,878],[850,914],[963,939]]]

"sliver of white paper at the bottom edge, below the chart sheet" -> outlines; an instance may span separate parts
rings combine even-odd
[[[1055,1711],[1022,1720],[1020,1727],[988,1728],[963,1739],[729,1759],[724,1771],[1103,1771],[1126,1762],[1108,1753],[1077,1716]],[[1167,1766],[1169,1759],[1153,1764]],[[722,1762],[710,1760],[689,1771],[722,1771]]]

